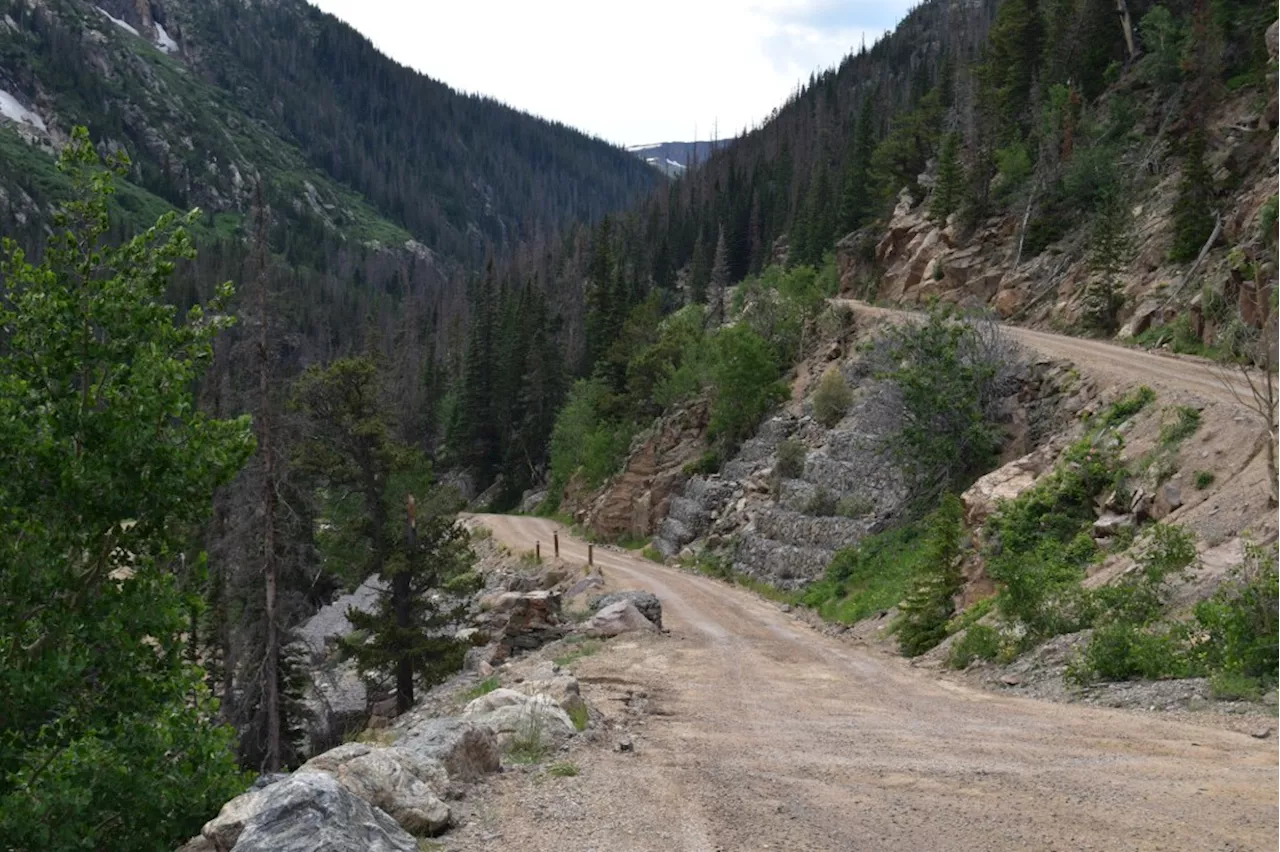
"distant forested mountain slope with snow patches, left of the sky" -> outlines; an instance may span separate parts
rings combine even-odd
[[[658,182],[604,142],[397,65],[305,0],[0,0],[0,14],[5,113],[32,116],[6,124],[54,145],[86,124],[179,207],[243,214],[261,173],[316,239],[412,237],[471,262]]]

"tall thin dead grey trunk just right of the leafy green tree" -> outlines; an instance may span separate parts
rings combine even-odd
[[[275,448],[273,445],[271,414],[271,349],[270,312],[268,310],[268,246],[266,246],[266,206],[262,201],[262,185],[257,188],[257,423],[259,452],[262,453],[262,574],[266,587],[266,649],[262,663],[262,701],[266,704],[266,762],[269,773],[280,770],[283,764],[280,748],[280,635],[276,623],[276,587],[280,567],[276,560],[275,542]]]

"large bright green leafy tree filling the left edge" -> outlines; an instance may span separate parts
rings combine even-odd
[[[220,306],[164,302],[191,217],[102,244],[113,174],[83,129],[60,168],[64,230],[40,266],[0,262],[0,837],[168,849],[241,788],[178,580],[253,440],[191,395]]]

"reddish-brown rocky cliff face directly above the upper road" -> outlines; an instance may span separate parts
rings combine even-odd
[[[1105,114],[1114,100],[1148,95],[1140,82],[1130,82],[1105,95],[1097,109]],[[1135,336],[1187,313],[1194,333],[1212,345],[1228,322],[1207,310],[1206,298],[1225,298],[1245,322],[1256,320],[1257,296],[1233,267],[1230,249],[1257,241],[1261,209],[1280,193],[1280,137],[1274,133],[1280,97],[1268,101],[1257,91],[1229,96],[1207,122],[1208,166],[1215,185],[1225,189],[1217,200],[1221,229],[1194,275],[1189,264],[1169,260],[1181,178],[1179,139],[1185,132],[1178,127],[1175,107],[1156,102],[1134,116],[1134,136],[1149,143],[1144,161],[1121,165],[1140,171],[1143,179],[1129,200],[1132,249],[1119,276],[1120,336]],[[922,175],[924,183],[928,177]],[[1028,223],[1043,197],[1037,185],[1027,203],[965,229],[957,216],[933,221],[928,198],[904,191],[886,226],[850,234],[838,244],[842,290],[902,306],[938,298],[991,308],[1020,324],[1084,330],[1083,296],[1092,274],[1088,226],[1032,251]]]

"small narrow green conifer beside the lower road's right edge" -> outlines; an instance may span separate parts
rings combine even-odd
[[[947,637],[947,622],[955,615],[955,596],[964,587],[960,573],[963,535],[964,507],[956,496],[947,495],[929,521],[919,580],[901,605],[896,632],[904,656],[919,656]]]

